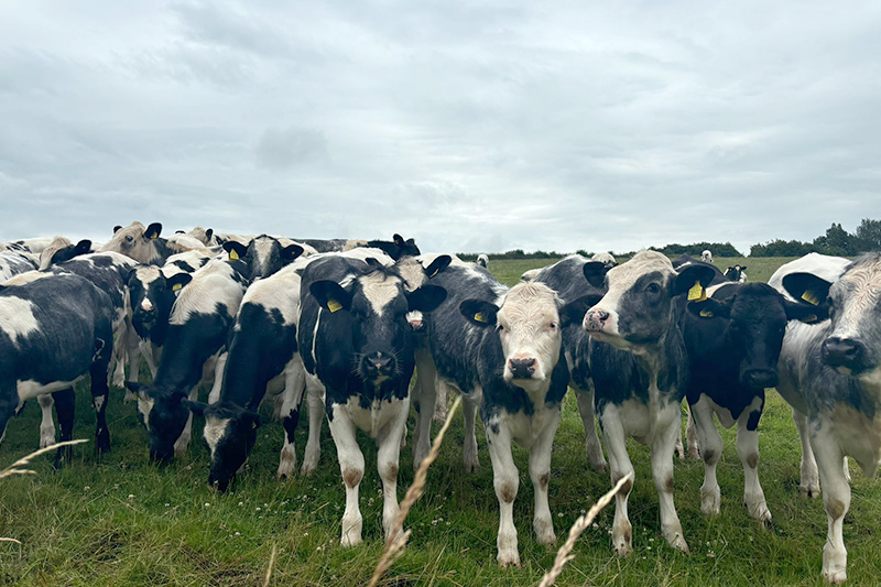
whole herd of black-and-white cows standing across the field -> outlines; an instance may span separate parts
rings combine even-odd
[[[509,287],[488,271],[487,256],[470,263],[422,254],[399,235],[366,241],[161,232],[160,224],[134,222],[116,227],[101,246],[55,238],[0,248],[0,430],[36,398],[41,446],[56,439],[53,405],[57,437],[69,439],[74,384],[88,374],[99,452],[110,448],[110,384],[124,388],[153,460],[183,455],[194,414],[204,418],[208,482],[226,491],[255,444],[263,401],[272,401],[284,431],[278,476],[294,475],[306,399],[301,471],[318,467],[326,415],[346,494],[340,542],[356,545],[366,467],[357,431],[378,448],[388,535],[399,513],[411,404],[418,465],[452,389],[463,398],[466,470],[478,466],[478,416],[486,432],[499,501],[497,559],[519,565],[512,443],[529,452],[536,539],[554,543],[551,455],[569,388],[587,459],[608,468],[612,483],[634,472],[627,439],[649,446],[661,531],[683,552],[688,542],[673,492],[683,400],[687,450],[705,465],[701,511],[718,514],[720,507],[724,447],[715,417],[737,425],[743,502],[768,524],[758,431],[765,389],[776,388],[802,436],[801,491],[823,488],[823,576],[845,580],[846,457],[869,475],[881,463],[881,254],[809,254],[781,267],[769,284],[747,283],[741,265],[722,273],[709,251],[674,261],[642,251],[620,265],[605,253],[576,254]],[[139,381],[141,358],[149,382]],[[203,384],[210,387],[207,403],[198,398]],[[58,449],[56,465],[66,459]],[[619,555],[632,551],[634,482],[616,496]]]

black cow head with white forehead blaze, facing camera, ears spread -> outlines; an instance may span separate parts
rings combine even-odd
[[[447,292],[435,285],[406,292],[393,268],[373,267],[373,271],[357,278],[350,290],[335,281],[316,281],[309,292],[330,314],[350,315],[354,371],[365,383],[380,388],[385,381],[396,384],[402,374],[400,361],[413,352],[407,312],[432,312]]]

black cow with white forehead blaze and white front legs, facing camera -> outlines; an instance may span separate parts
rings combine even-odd
[[[326,388],[327,420],[346,486],[342,545],[361,542],[358,488],[365,461],[356,428],[379,448],[387,536],[398,518],[398,456],[414,368],[406,313],[431,312],[445,295],[432,285],[405,292],[396,270],[378,261],[328,257],[303,270],[297,344],[306,370]]]

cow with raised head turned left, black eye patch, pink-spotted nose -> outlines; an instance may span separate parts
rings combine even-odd
[[[608,292],[585,314],[596,410],[609,457],[612,485],[633,472],[626,439],[651,446],[652,477],[661,504],[661,530],[674,548],[688,552],[673,502],[673,450],[682,432],[681,404],[688,381],[688,357],[676,322],[674,297],[706,287],[713,271],[703,264],[678,273],[670,259],[641,251],[605,274],[586,263],[585,276]],[[608,343],[603,345],[602,343]],[[627,351],[627,352],[621,352]],[[632,482],[616,496],[612,545],[619,555],[632,551],[627,499]]]

